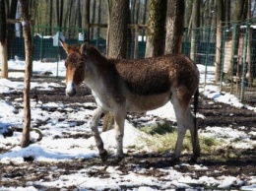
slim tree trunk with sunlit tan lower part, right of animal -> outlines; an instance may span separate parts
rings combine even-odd
[[[215,58],[215,83],[219,83],[221,79],[221,62],[222,62],[222,33],[223,33],[223,0],[217,0],[217,28],[216,28],[216,58]]]

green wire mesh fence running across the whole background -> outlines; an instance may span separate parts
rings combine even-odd
[[[94,29],[90,43],[100,52],[106,53],[106,28]],[[146,50],[146,28],[131,28],[128,32],[128,58],[143,58]],[[24,39],[16,31],[8,41],[8,57],[25,59]],[[220,92],[234,94],[238,98],[256,103],[256,21],[222,27],[221,82]],[[58,62],[66,58],[58,39],[65,38],[69,44],[79,44],[86,39],[84,29],[32,27],[32,60]],[[215,67],[217,49],[217,28],[209,26],[189,30],[183,34],[182,52],[197,64],[205,66],[204,84],[209,84],[209,67]]]

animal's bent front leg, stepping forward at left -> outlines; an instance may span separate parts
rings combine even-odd
[[[96,110],[93,114],[92,120],[91,120],[90,127],[92,129],[92,134],[93,134],[93,136],[95,137],[95,140],[96,140],[96,147],[98,149],[99,156],[100,156],[102,161],[105,161],[107,159],[107,152],[104,149],[102,139],[100,138],[99,132],[98,132],[98,129],[97,129],[97,124],[98,124],[99,119],[100,119],[100,117],[103,113],[104,113],[104,110],[102,108],[100,108],[100,107],[96,108]]]

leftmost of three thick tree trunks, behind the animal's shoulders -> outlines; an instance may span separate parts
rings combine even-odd
[[[128,11],[129,0],[115,0],[112,3],[108,57],[126,58]]]

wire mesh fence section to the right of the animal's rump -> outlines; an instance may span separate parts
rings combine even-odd
[[[220,92],[256,103],[256,22],[235,23],[222,27]],[[183,53],[206,68],[216,66],[217,28],[207,27],[184,32]]]

